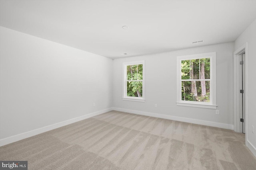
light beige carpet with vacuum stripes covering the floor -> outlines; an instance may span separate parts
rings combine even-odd
[[[256,170],[232,130],[110,111],[0,147],[29,170]]]

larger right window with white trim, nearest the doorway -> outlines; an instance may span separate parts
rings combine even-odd
[[[216,52],[177,57],[177,105],[216,109]]]

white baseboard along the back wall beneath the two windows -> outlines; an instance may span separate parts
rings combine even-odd
[[[118,108],[118,107],[112,107],[112,108],[113,108],[113,110],[116,110],[116,111],[134,113],[134,114],[138,114],[138,115],[158,117],[158,118],[162,118],[162,119],[170,119],[170,120],[175,120],[175,121],[183,121],[183,122],[187,122],[187,123],[194,123],[194,124],[198,124],[198,125],[206,125],[206,126],[220,127],[220,128],[223,128],[223,129],[234,130],[234,125],[225,124],[225,123],[217,123],[217,122],[213,122],[213,121],[204,121],[204,120],[190,119],[190,118],[185,118],[185,117],[162,115],[162,114],[150,113],[150,112],[145,112],[145,111],[122,109],[122,108]]]

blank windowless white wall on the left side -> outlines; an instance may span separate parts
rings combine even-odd
[[[112,107],[112,59],[5,27],[0,37],[0,139]]]

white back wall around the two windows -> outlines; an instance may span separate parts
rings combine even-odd
[[[233,128],[233,51],[234,43],[224,43],[168,53],[114,59],[113,101],[117,110],[142,113],[192,123]],[[216,104],[215,109],[176,106],[176,57],[216,52]],[[122,100],[122,63],[145,60],[145,99],[143,102]],[[157,107],[154,107],[157,104]],[[137,111],[137,112],[136,112]],[[164,116],[163,116],[164,115]],[[167,116],[165,116],[167,115]],[[177,118],[178,117],[178,118]],[[182,117],[182,118],[180,118]],[[192,120],[197,119],[197,120]]]

